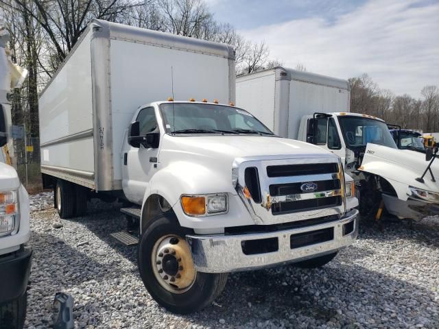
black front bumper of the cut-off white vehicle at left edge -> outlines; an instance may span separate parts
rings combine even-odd
[[[16,300],[27,288],[32,249],[19,249],[0,257],[0,304]]]

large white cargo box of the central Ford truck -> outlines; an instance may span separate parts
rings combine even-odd
[[[121,189],[121,146],[134,112],[173,89],[176,101],[235,101],[233,49],[93,21],[40,95],[42,173]]]

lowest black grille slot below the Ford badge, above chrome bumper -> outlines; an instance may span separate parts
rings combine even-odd
[[[293,202],[279,202],[272,204],[273,215],[283,215],[292,212],[318,210],[342,205],[342,197],[320,197],[317,199],[298,200]]]

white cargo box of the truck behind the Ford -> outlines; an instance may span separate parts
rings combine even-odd
[[[314,112],[349,112],[346,80],[275,67],[237,77],[237,106],[276,134],[296,139],[300,119]]]

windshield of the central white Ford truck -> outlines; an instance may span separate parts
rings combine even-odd
[[[200,103],[163,103],[160,106],[171,134],[263,134],[273,133],[245,110]]]

